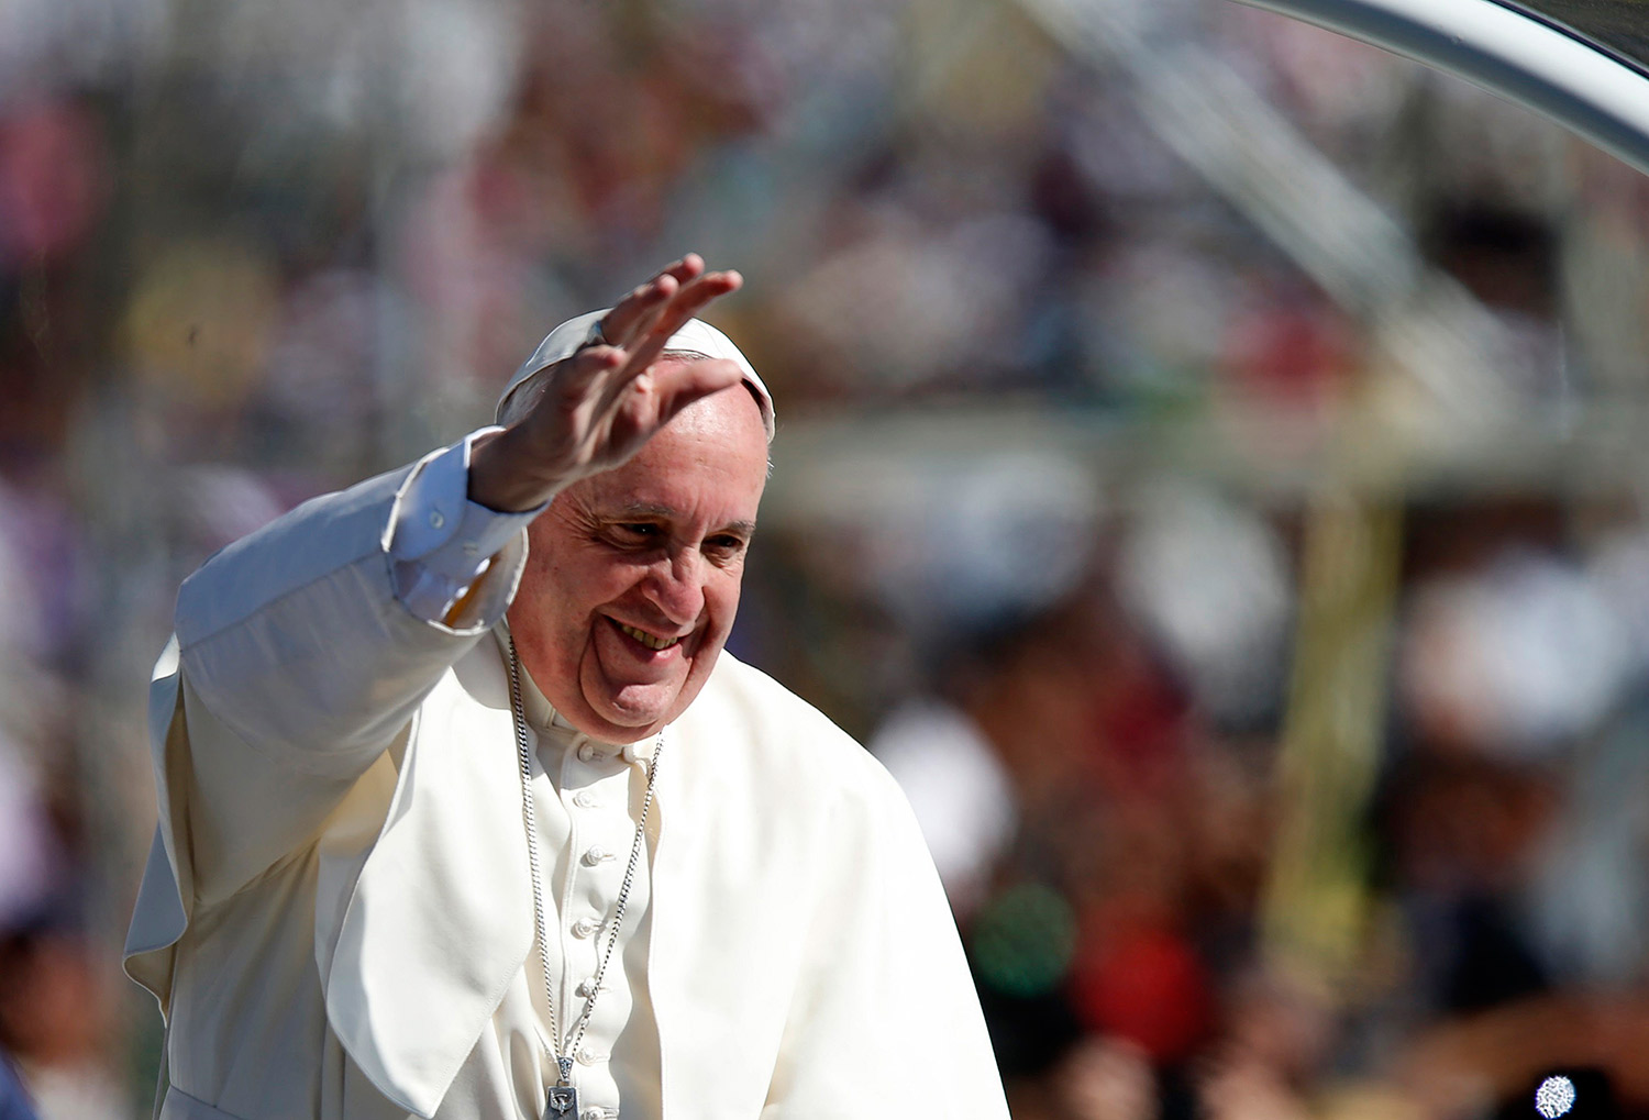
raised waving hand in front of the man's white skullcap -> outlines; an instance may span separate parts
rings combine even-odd
[[[470,498],[531,510],[567,485],[630,459],[676,412],[739,384],[726,360],[660,361],[689,318],[739,290],[737,272],[706,272],[689,252],[625,295],[602,318],[605,343],[580,348],[521,391],[531,406],[470,455]]]

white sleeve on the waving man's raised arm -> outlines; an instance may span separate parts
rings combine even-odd
[[[152,731],[196,899],[228,897],[308,843],[508,609],[526,564],[524,518],[485,516],[470,531],[462,473],[412,485],[447,454],[305,501],[178,591],[171,701]],[[508,539],[483,571],[501,526]],[[453,572],[449,559],[472,543],[478,561]],[[397,559],[447,564],[455,589],[483,582],[447,617],[419,615],[396,594]]]

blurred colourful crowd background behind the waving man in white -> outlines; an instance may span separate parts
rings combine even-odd
[[[1016,1120],[1649,1115],[1641,175],[1227,0],[10,0],[43,1117],[148,1110],[178,581],[686,249],[780,402],[732,648],[910,792]]]

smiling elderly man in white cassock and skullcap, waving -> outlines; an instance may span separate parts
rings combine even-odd
[[[722,653],[767,389],[688,256],[213,558],[127,970],[171,1120],[1006,1117],[910,812]]]

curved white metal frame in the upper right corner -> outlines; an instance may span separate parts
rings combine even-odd
[[[1494,0],[1238,0],[1426,63],[1532,109],[1649,175],[1649,78]]]

